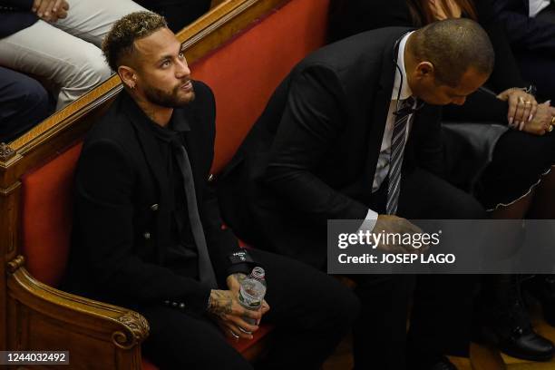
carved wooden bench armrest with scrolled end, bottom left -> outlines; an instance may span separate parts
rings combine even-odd
[[[141,369],[149,324],[123,307],[74,296],[8,263],[8,348],[69,351],[72,368]]]

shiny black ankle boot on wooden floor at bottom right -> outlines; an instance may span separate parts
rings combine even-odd
[[[555,353],[550,340],[537,334],[521,299],[520,283],[501,284],[503,297],[496,307],[482,312],[479,339],[501,352],[531,361],[548,361]],[[501,304],[502,303],[502,304]],[[482,308],[483,309],[483,308]]]

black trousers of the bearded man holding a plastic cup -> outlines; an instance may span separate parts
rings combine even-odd
[[[358,316],[358,299],[316,268],[261,250],[250,253],[266,270],[270,310],[262,322],[276,325],[260,368],[319,368]],[[163,305],[139,312],[151,326],[143,353],[161,369],[252,368],[205,315]]]

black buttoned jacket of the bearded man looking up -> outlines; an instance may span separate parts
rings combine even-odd
[[[176,109],[189,122],[185,135],[200,218],[209,254],[221,281],[237,239],[221,229],[219,207],[209,189],[215,138],[215,102],[195,82],[196,99]],[[88,134],[75,179],[73,246],[65,283],[69,290],[126,307],[171,300],[203,311],[209,287],[162,267],[172,240],[168,179],[151,122],[123,92]],[[156,205],[156,206],[154,206]]]

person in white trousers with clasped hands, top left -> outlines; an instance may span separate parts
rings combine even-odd
[[[57,85],[59,110],[110,77],[102,38],[140,10],[131,0],[0,0],[0,65]]]

